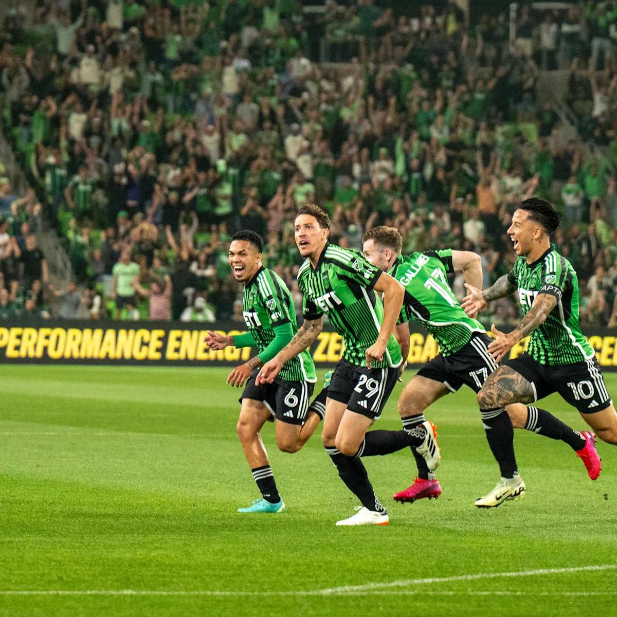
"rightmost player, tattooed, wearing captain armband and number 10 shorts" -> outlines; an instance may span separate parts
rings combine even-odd
[[[521,323],[509,334],[492,326],[495,340],[488,346],[488,352],[502,365],[484,382],[478,403],[485,412],[497,413],[504,405],[535,402],[558,392],[579,410],[603,441],[617,444],[615,407],[594,350],[581,333],[576,271],[550,244],[550,235],[557,230],[560,218],[547,201],[532,198],[521,202],[508,228],[518,255],[510,273],[484,291],[466,284],[470,293],[462,306],[468,315],[516,290],[524,314]],[[528,334],[527,352],[513,360],[505,357]],[[519,409],[521,416],[515,420],[516,426],[553,439],[563,439],[561,436],[569,430],[543,409]],[[584,456],[584,449],[590,450],[589,444],[595,438],[594,433],[584,431],[574,433],[567,441],[579,456]],[[600,473],[599,459],[596,463],[595,478]],[[510,490],[499,482],[484,499],[502,501],[507,499]]]

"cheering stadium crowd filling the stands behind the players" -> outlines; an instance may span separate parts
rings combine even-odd
[[[28,26],[10,11],[2,123],[34,190],[0,180],[0,317],[46,317],[57,296],[65,318],[241,321],[226,246],[240,228],[262,234],[299,308],[291,223],[312,202],[341,246],[392,225],[404,252],[479,252],[488,286],[534,194],[564,213],[555,244],[583,320],[615,326],[617,4],[524,7],[512,46],[505,13],[468,23],[436,4],[328,0],[317,51],[295,0],[38,0]],[[553,68],[579,138],[537,98]],[[49,283],[46,224],[83,294]],[[518,319],[494,304],[487,322]]]

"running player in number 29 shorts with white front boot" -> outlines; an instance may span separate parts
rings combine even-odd
[[[304,323],[292,341],[263,365],[257,383],[271,383],[286,362],[307,349],[321,331],[323,315],[328,315],[345,350],[329,384],[321,441],[342,481],[362,504],[355,515],[336,524],[386,525],[387,512],[360,457],[413,446],[429,468],[435,468],[439,447],[429,422],[402,431],[366,432],[381,415],[403,362],[392,331],[404,289],[360,252],[329,244],[329,225],[328,215],[316,205],[305,205],[297,214],[296,244],[306,258],[298,271]],[[383,305],[375,292],[383,294]]]

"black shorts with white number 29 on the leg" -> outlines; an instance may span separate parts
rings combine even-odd
[[[347,409],[378,420],[396,380],[398,368],[366,368],[340,360],[328,386],[328,398],[347,405]]]

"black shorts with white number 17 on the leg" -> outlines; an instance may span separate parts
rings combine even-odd
[[[491,338],[487,334],[474,333],[463,349],[445,357],[437,355],[417,375],[441,381],[450,392],[456,392],[463,384],[479,392],[486,378],[497,368],[486,350],[490,342]]]

